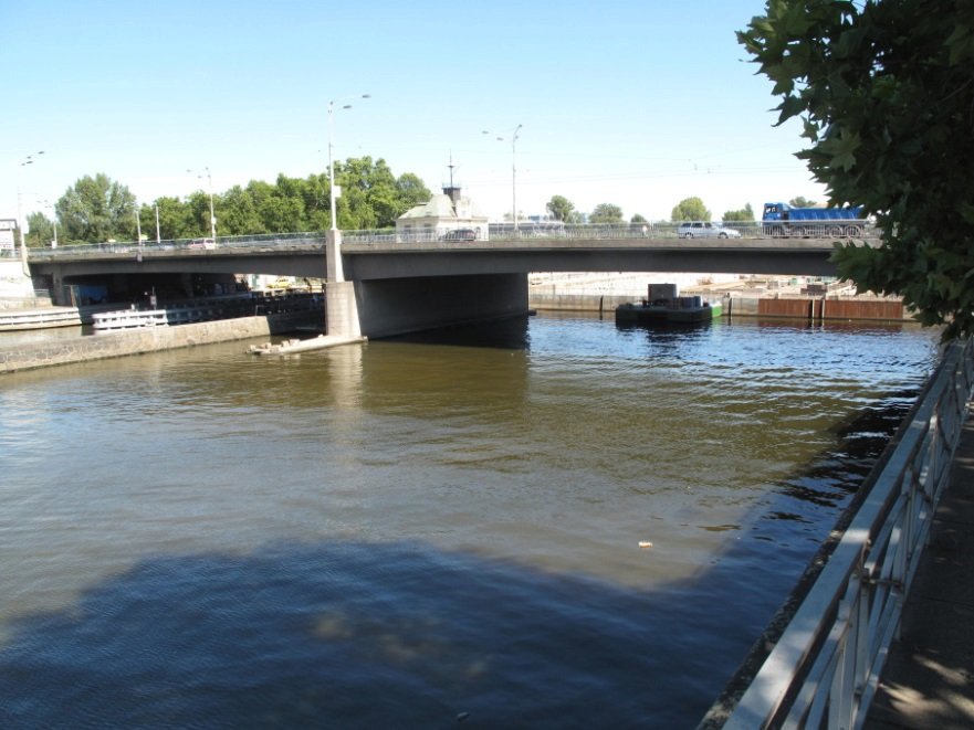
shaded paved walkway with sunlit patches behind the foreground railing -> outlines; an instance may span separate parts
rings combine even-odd
[[[974,413],[866,728],[974,728]]]

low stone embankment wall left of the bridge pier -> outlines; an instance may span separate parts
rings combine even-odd
[[[265,317],[240,317],[179,325],[178,327],[153,327],[106,332],[92,337],[63,338],[42,343],[27,343],[0,350],[0,373],[118,358],[126,355],[159,352],[211,342],[268,337],[293,331],[295,327],[302,325],[323,325],[321,316],[321,313],[317,313],[314,318],[310,319],[308,313],[295,313]]]

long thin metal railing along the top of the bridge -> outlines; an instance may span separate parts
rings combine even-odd
[[[699,231],[681,231],[678,223],[617,223],[617,224],[584,224],[565,225],[557,222],[519,223],[515,231],[510,223],[492,223],[485,236],[473,241],[451,237],[447,229],[422,229],[413,231],[397,231],[396,229],[376,229],[368,231],[343,231],[342,241],[357,245],[389,245],[389,244],[432,244],[443,247],[457,248],[465,246],[483,246],[494,242],[511,241],[578,241],[597,240],[612,241],[626,240],[638,241],[640,239],[681,239],[701,237],[721,239],[723,232],[730,240],[735,239],[768,239],[768,237],[802,237],[819,240],[838,240],[856,237],[874,239],[877,230],[867,221],[849,221],[844,228],[842,221],[823,222],[821,224],[804,224],[800,229],[795,228],[785,234],[778,224],[754,223],[726,223],[722,229],[712,229],[710,235],[701,236]],[[300,233],[263,233],[256,235],[219,236],[214,242],[209,239],[177,239],[167,241],[111,241],[106,243],[81,243],[61,244],[56,248],[28,248],[28,256],[32,261],[51,261],[59,257],[77,256],[111,256],[111,255],[138,255],[139,253],[151,254],[155,252],[199,252],[208,255],[213,250],[254,250],[254,248],[322,248],[325,245],[325,234],[320,231],[306,231]],[[15,253],[12,255],[17,255]]]

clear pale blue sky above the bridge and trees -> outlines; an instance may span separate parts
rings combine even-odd
[[[140,202],[221,192],[335,156],[384,158],[438,190],[454,178],[500,220],[561,194],[668,219],[824,200],[775,128],[771,83],[735,30],[758,0],[411,2],[0,0],[0,218],[104,172]],[[369,94],[368,99],[356,99]],[[353,100],[356,99],[356,100]],[[482,130],[493,135],[483,135]],[[496,136],[505,137],[498,141]],[[38,150],[35,165],[20,162]]]

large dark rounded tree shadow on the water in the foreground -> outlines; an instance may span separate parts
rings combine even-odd
[[[715,621],[699,597],[410,543],[149,559],[13,624],[0,718],[7,729],[690,727],[713,685],[706,647],[692,636],[684,647],[702,687],[668,680],[669,656],[642,649],[661,624]]]

